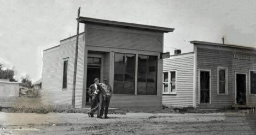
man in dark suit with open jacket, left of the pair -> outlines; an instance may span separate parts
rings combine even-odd
[[[89,87],[88,94],[91,98],[91,110],[88,112],[89,117],[94,117],[94,113],[98,110],[99,105],[98,102],[100,102],[100,93],[101,93],[101,86],[98,84],[100,82],[100,79],[95,78],[94,84],[91,84]]]

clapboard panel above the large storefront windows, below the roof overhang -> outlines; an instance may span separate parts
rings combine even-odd
[[[86,24],[87,45],[162,52],[162,33]]]

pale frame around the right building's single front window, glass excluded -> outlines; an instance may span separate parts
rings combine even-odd
[[[219,70],[225,69],[225,93],[219,93]],[[226,96],[229,95],[229,81],[228,81],[228,67],[218,66],[217,68],[217,95]]]

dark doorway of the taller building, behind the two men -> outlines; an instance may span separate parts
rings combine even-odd
[[[94,79],[95,78],[100,78],[101,77],[101,67],[100,66],[88,66],[87,68],[87,81],[86,81],[86,102],[85,105],[89,106],[89,94],[88,90],[91,84],[94,84]]]

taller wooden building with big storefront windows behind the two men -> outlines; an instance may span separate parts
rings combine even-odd
[[[75,107],[85,108],[94,78],[109,79],[110,107],[153,108],[162,105],[164,33],[172,28],[80,17]],[[42,89],[51,104],[71,104],[75,36],[44,50]]]

